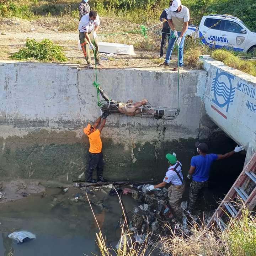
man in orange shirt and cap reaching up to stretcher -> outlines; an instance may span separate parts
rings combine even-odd
[[[89,148],[89,166],[87,169],[87,180],[86,182],[96,183],[98,181],[106,182],[103,178],[103,154],[102,154],[102,142],[100,138],[101,131],[106,124],[106,118],[109,115],[109,112],[104,112],[102,116],[98,117],[93,125],[88,124],[84,128],[84,133],[89,138],[90,148]],[[103,119],[101,122],[101,118]],[[97,128],[97,126],[99,127]],[[98,179],[94,180],[92,178],[92,173],[94,170],[97,170]]]

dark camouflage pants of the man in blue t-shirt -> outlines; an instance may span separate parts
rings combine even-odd
[[[205,187],[208,187],[208,181],[198,182],[198,181],[192,180],[190,184],[190,192],[188,194],[188,198],[190,200],[188,204],[188,210],[191,213],[193,213],[195,207],[197,208],[200,207],[202,203],[203,191]]]

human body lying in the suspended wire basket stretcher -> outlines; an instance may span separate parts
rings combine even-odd
[[[133,103],[133,100],[128,100],[127,103],[111,100],[104,90],[99,87],[100,94],[106,103],[101,106],[102,111],[110,111],[110,113],[121,113],[127,116],[135,116],[136,114],[145,113],[147,115],[152,115],[156,119],[160,119],[164,116],[164,110],[154,110],[149,104],[147,99]]]

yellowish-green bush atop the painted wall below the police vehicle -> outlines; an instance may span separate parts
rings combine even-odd
[[[256,76],[256,68],[249,60],[241,60],[234,55],[233,52],[229,52],[225,49],[217,49],[212,53],[212,57],[223,62],[225,65],[241,70],[245,73]]]

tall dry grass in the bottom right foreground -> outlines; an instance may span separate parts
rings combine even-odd
[[[90,204],[88,196],[87,199]],[[119,201],[124,214],[125,210],[120,197]],[[171,256],[255,256],[255,213],[249,212],[244,204],[240,205],[240,208],[242,210],[241,218],[233,219],[226,214],[229,222],[224,231],[220,231],[214,226],[208,229],[203,224],[198,225],[193,221],[193,224],[190,224],[189,232],[184,233],[178,225],[173,229],[170,224],[165,224],[170,230],[170,235],[159,236],[160,241],[155,246],[160,244],[162,254]],[[93,210],[92,213],[97,222]],[[119,240],[121,243],[117,250],[107,246],[99,225],[98,229],[99,233],[96,234],[96,238],[101,256],[149,256],[153,252],[153,246],[149,245],[151,244],[150,233],[146,233],[146,239],[142,244],[134,242],[132,238],[134,234],[129,232],[126,217],[124,223],[121,224],[122,232]]]

